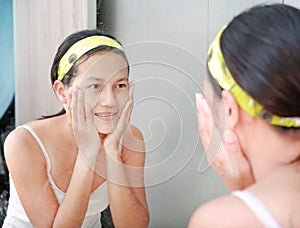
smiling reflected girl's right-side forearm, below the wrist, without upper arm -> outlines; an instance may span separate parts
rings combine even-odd
[[[129,172],[116,155],[107,159],[107,181],[114,225],[119,227],[148,227],[148,207],[134,194]]]

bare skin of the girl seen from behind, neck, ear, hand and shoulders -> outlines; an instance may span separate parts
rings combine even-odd
[[[224,128],[218,129],[223,136],[221,149],[214,160],[209,160],[213,168],[230,191],[246,189],[254,193],[283,227],[298,227],[300,206],[296,202],[300,202],[299,132],[283,134],[265,121],[249,116],[228,91],[222,92],[221,100],[212,100],[215,99],[212,86],[207,76],[205,80],[204,92],[207,97],[198,94],[196,104],[199,131],[206,149],[213,129],[224,121]],[[216,110],[223,110],[223,114],[213,114],[211,104],[218,104]],[[215,121],[216,116],[219,119]],[[207,154],[207,157],[211,159],[212,156]],[[242,200],[225,195],[197,208],[188,227],[262,225]]]

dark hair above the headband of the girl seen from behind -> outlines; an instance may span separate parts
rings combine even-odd
[[[300,116],[298,9],[282,4],[252,7],[229,23],[220,45],[233,78],[268,112]]]

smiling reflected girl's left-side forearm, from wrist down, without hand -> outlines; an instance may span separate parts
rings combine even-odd
[[[81,227],[92,190],[94,171],[79,153],[70,184],[57,211],[53,227]]]

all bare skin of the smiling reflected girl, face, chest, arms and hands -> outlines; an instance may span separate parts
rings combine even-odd
[[[67,113],[26,125],[38,133],[49,153],[51,176],[65,192],[60,205],[48,181],[45,158],[31,134],[15,129],[4,145],[11,177],[31,223],[81,227],[91,192],[107,180],[115,227],[147,227],[145,148],[141,132],[129,124],[134,84],[128,83],[125,60],[98,52],[80,64],[72,87],[61,81],[53,87]]]

